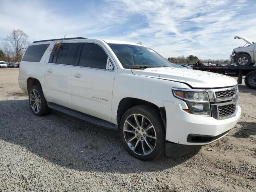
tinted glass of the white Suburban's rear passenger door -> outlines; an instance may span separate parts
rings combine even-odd
[[[60,46],[56,63],[75,65],[78,43],[64,43]]]

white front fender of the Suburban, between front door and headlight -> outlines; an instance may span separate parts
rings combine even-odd
[[[117,74],[114,81],[111,119],[117,124],[118,105],[123,98],[137,98],[164,107],[163,102],[172,101],[186,108],[184,101],[172,95],[172,87],[189,88],[181,82],[173,82],[158,78],[138,76],[134,74]]]

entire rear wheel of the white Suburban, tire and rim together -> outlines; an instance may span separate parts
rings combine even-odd
[[[29,106],[36,116],[43,116],[50,113],[50,108],[44,98],[42,88],[39,85],[33,85],[29,92]]]

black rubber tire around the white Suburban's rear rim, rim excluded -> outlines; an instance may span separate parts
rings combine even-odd
[[[38,110],[38,111],[35,111],[33,109],[33,107],[32,107],[32,103],[33,103],[33,101],[32,101],[33,100],[33,96],[32,95],[34,95],[34,93],[32,93],[33,90],[37,91],[37,93],[39,94],[39,98],[40,98],[40,110]],[[28,102],[29,102],[29,106],[30,106],[31,111],[36,116],[44,116],[44,115],[47,115],[47,114],[49,114],[51,112],[51,109],[48,107],[47,102],[46,102],[46,100],[44,98],[44,94],[43,94],[42,88],[39,85],[33,85],[30,88],[29,95],[28,95]]]

